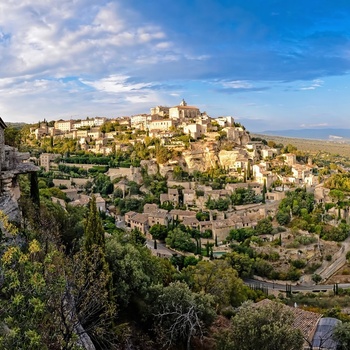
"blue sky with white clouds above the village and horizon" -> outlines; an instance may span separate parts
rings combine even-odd
[[[349,0],[1,0],[5,122],[188,105],[250,131],[350,128]]]

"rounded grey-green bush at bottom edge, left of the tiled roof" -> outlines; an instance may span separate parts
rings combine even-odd
[[[293,326],[294,316],[277,302],[245,303],[228,330],[219,333],[219,350],[301,350],[303,336]]]

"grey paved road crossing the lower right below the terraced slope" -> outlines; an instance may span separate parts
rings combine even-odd
[[[281,283],[280,281],[278,283],[274,282],[263,282],[258,281],[252,278],[246,278],[244,279],[244,283],[247,285],[256,285],[261,286],[264,288],[268,288],[269,290],[278,290],[281,292],[286,291],[286,284],[289,283]],[[342,289],[348,289],[350,288],[350,283],[339,283],[339,288]],[[306,286],[306,285],[298,285],[298,286],[291,286],[292,292],[327,292],[329,290],[333,290],[333,284],[319,284],[319,285],[312,285],[312,286]]]

